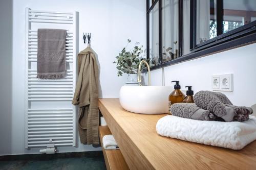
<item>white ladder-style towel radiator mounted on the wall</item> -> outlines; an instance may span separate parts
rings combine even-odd
[[[76,107],[71,104],[76,83],[77,12],[37,11],[26,8],[25,148],[76,146]],[[37,29],[66,29],[67,76],[36,78]]]

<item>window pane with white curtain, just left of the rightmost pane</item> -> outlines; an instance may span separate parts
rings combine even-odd
[[[217,36],[216,1],[197,0],[197,44]]]

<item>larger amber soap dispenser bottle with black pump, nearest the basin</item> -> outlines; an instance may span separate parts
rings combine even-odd
[[[185,94],[183,94],[183,92],[180,90],[179,81],[172,81],[172,82],[176,82],[176,84],[174,85],[174,91],[169,95],[168,111],[170,115],[172,115],[172,113],[170,112],[170,106],[172,106],[172,104],[174,103],[182,103],[183,99],[185,98]]]

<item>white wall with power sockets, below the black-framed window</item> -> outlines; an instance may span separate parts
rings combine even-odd
[[[193,86],[194,93],[211,90],[211,76],[233,73],[233,91],[223,92],[237,106],[256,104],[256,43],[182,62],[164,68],[165,85],[179,80],[181,89]],[[161,85],[162,70],[151,72],[152,85]],[[172,84],[173,86],[173,84]]]

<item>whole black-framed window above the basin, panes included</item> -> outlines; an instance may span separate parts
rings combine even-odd
[[[256,41],[254,0],[147,0],[151,69]]]

